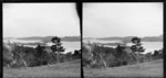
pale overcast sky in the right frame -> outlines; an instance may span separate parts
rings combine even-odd
[[[158,36],[163,3],[84,3],[83,37]]]

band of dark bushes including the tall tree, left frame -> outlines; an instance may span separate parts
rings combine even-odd
[[[51,41],[54,43],[51,47],[39,44],[35,48],[3,43],[3,66],[34,67],[80,59],[80,49],[75,49],[74,54],[61,54],[65,51],[61,46],[61,40],[54,37]]]

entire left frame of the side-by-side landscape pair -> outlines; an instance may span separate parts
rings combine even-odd
[[[4,78],[81,78],[76,2],[2,3]]]

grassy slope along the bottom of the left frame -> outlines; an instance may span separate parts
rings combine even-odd
[[[49,66],[28,67],[28,68],[4,68],[4,78],[59,78],[71,77],[80,78],[81,60],[60,63]]]

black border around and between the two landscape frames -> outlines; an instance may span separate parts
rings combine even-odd
[[[82,13],[83,13],[83,10],[82,10],[82,3],[83,2],[164,2],[164,11],[166,10],[166,3],[165,3],[165,0],[55,0],[55,1],[53,1],[53,0],[2,0],[2,1],[0,1],[0,2],[2,2],[2,3],[52,3],[52,2],[76,2],[77,4],[79,4],[79,9],[80,9],[80,32],[81,32],[81,45],[82,45],[82,34],[83,34],[83,32],[82,32],[82,21],[83,21],[83,19],[82,19]],[[1,29],[2,29],[2,3],[0,3],[0,7],[1,7]],[[163,12],[164,12],[163,11]],[[164,12],[165,13],[165,12]],[[163,14],[164,14],[163,13]],[[165,15],[163,16],[164,18],[164,21],[163,21],[163,27],[165,29],[165,26],[164,26],[164,22],[166,22],[165,21]],[[164,46],[165,46],[165,44],[166,44],[166,42],[165,42],[165,30],[163,29],[163,35],[164,35]],[[2,30],[1,30],[1,33],[3,33],[2,32]],[[1,34],[1,47],[0,47],[0,49],[2,51],[2,36],[3,36],[3,34]],[[82,47],[82,46],[81,46]],[[82,49],[81,49],[82,51]],[[164,52],[166,51],[166,48],[164,47]],[[2,74],[2,70],[3,70],[3,67],[2,67],[2,53],[0,53],[0,56],[1,56],[1,76],[3,75]],[[165,63],[166,63],[166,53],[164,53],[164,67],[165,67]],[[82,57],[82,56],[81,56]],[[81,59],[81,66],[82,66],[82,59]],[[165,74],[165,68],[164,68],[164,77],[166,76],[166,74]],[[84,78],[84,75],[83,75],[83,66],[81,67],[81,78]]]

